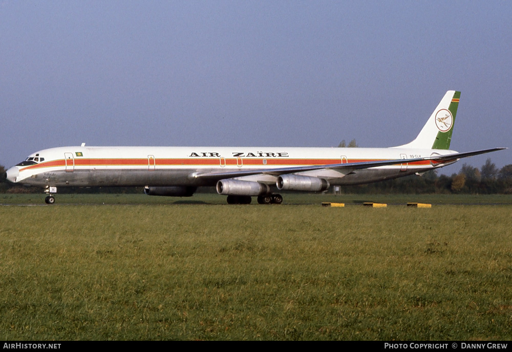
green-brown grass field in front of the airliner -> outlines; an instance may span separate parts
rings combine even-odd
[[[512,339],[510,196],[131,197],[0,206],[1,339]]]

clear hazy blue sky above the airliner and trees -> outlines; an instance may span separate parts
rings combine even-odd
[[[452,149],[512,147],[510,18],[499,1],[0,0],[0,164],[82,142],[389,147],[450,89]],[[487,157],[512,163],[463,162]]]

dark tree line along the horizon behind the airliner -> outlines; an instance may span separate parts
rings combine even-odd
[[[0,165],[0,175],[5,174],[5,167]],[[462,164],[458,173],[451,176],[439,175],[439,170],[431,170],[421,176],[411,175],[375,183],[355,186],[342,186],[344,194],[512,194],[512,164],[498,169],[488,158],[480,168]],[[332,189],[332,187],[331,187]],[[65,189],[63,193],[140,193],[141,187],[92,187],[91,189]],[[0,177],[0,193],[40,193],[38,187],[13,185],[3,176]],[[208,192],[208,191],[206,191]]]

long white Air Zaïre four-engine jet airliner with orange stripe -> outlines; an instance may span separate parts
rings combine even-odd
[[[279,191],[321,192],[421,175],[468,156],[506,148],[450,150],[460,91],[449,90],[418,136],[390,148],[287,147],[58,147],[35,152],[10,168],[13,183],[44,187],[143,186],[152,196],[190,197],[215,186],[229,204],[281,204]]]

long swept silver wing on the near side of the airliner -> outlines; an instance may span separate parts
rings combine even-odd
[[[322,170],[322,169],[331,169],[331,170],[361,170],[361,169],[370,169],[376,168],[379,166],[389,166],[389,165],[400,165],[403,163],[412,163],[417,161],[425,161],[430,160],[432,163],[445,163],[451,161],[457,161],[459,159],[474,156],[479,154],[485,154],[490,152],[495,152],[498,150],[503,150],[507,148],[492,148],[492,149],[483,149],[477,150],[473,152],[465,152],[465,153],[453,153],[447,155],[433,155],[422,158],[411,158],[411,159],[394,159],[394,160],[377,160],[377,161],[363,161],[363,162],[350,162],[350,163],[338,163],[338,164],[328,164],[328,165],[314,165],[314,166],[297,166],[297,167],[287,167],[287,168],[272,168],[272,169],[251,169],[251,170],[240,170],[240,171],[226,171],[226,172],[198,172],[194,173],[193,177],[208,179],[208,180],[222,180],[228,178],[242,177],[242,176],[250,176],[250,175],[285,175],[285,174],[293,174],[297,172],[303,171],[312,171],[312,170]]]

